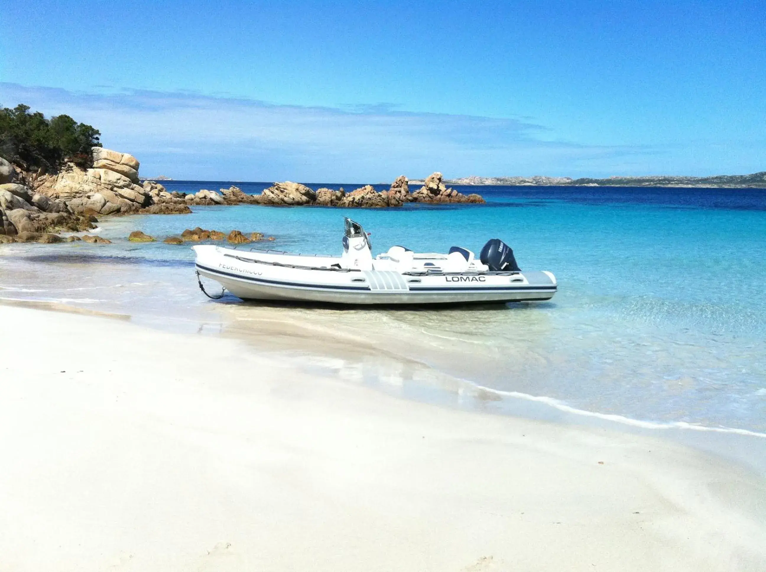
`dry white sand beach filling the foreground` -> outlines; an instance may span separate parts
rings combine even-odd
[[[766,482],[246,344],[0,306],[0,570],[766,570]]]

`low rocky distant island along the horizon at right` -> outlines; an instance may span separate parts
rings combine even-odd
[[[411,181],[417,183],[417,181]],[[445,179],[445,185],[508,186],[580,186],[580,187],[728,187],[766,188],[766,171],[751,175],[714,175],[685,177],[682,175],[648,175],[645,177],[571,178],[571,177],[464,177]]]

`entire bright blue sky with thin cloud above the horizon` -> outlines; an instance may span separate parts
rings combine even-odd
[[[143,175],[766,170],[764,2],[0,0],[0,104]]]

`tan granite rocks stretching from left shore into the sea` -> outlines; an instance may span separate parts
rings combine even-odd
[[[0,159],[0,236],[21,232],[51,233],[56,230],[87,230],[96,217],[112,214],[187,214],[191,206],[224,204],[318,205],[329,207],[401,207],[426,203],[483,202],[478,194],[463,195],[446,188],[440,173],[430,175],[424,186],[410,192],[408,178],[398,177],[388,191],[372,185],[346,193],[342,188],[312,188],[292,181],[275,182],[258,195],[231,186],[221,191],[201,189],[193,194],[168,191],[157,181],[140,181],[138,159],[128,153],[93,147],[90,162],[67,163],[58,172],[23,171]],[[141,184],[139,184],[139,181]],[[241,233],[240,233],[241,234]],[[211,237],[196,240],[208,240]],[[223,234],[218,240],[223,238]],[[244,234],[234,240],[248,239]],[[261,237],[262,238],[262,237]],[[182,240],[195,240],[185,238]],[[213,239],[216,240],[216,239]],[[271,238],[270,238],[271,240]],[[7,242],[7,240],[5,240]]]

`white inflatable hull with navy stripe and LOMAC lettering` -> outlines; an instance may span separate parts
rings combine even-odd
[[[196,270],[242,299],[329,302],[352,305],[522,302],[551,299],[548,272],[398,273],[330,268],[332,257],[311,257],[194,247]],[[288,255],[289,257],[289,255]],[[287,262],[287,263],[286,263]],[[322,267],[319,267],[322,266]]]

